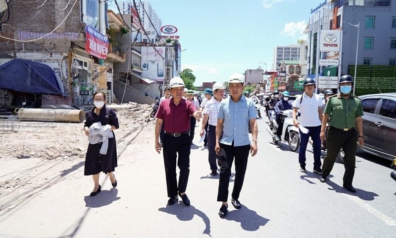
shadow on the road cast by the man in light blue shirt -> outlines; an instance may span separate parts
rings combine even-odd
[[[255,211],[248,209],[242,204],[241,209],[229,211],[225,219],[241,223],[242,229],[250,232],[257,231],[269,221],[269,219],[259,216]]]

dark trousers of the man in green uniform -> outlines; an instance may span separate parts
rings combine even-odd
[[[323,160],[322,176],[330,175],[334,163],[341,148],[344,149],[344,184],[345,186],[352,185],[353,176],[355,174],[356,164],[356,149],[357,149],[357,131],[352,129],[343,131],[330,126],[327,132],[326,149],[327,153]]]

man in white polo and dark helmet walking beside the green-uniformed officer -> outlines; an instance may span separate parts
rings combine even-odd
[[[304,134],[300,131],[300,148],[298,152],[298,162],[300,164],[299,170],[301,172],[306,172],[305,170],[305,152],[306,146],[308,144],[309,137],[312,138],[313,141],[313,172],[319,175],[322,174],[322,162],[320,160],[320,149],[321,149],[321,140],[320,140],[320,128],[322,125],[322,105],[323,102],[320,99],[319,95],[315,94],[314,91],[316,89],[315,80],[311,78],[307,78],[303,84],[304,93],[302,95],[297,96],[296,100],[293,103],[293,122],[296,127],[299,125],[304,126],[308,129],[308,133]],[[297,120],[297,111],[301,113],[300,122]]]

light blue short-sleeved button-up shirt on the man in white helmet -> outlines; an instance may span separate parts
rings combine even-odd
[[[234,103],[231,97],[221,100],[217,119],[224,119],[223,136],[220,143],[234,146],[249,145],[248,123],[249,119],[257,116],[254,102],[242,95]]]

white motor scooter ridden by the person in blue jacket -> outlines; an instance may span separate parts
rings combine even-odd
[[[297,116],[298,118],[298,116]],[[281,114],[281,121],[283,121],[283,130],[281,135],[281,140],[276,139],[276,131],[278,130],[278,123],[276,122],[276,117],[270,117],[269,127],[267,131],[272,136],[272,141],[278,144],[282,141],[287,141],[289,144],[289,149],[291,151],[296,151],[300,146],[300,134],[298,128],[294,126],[293,123],[293,110],[285,110]]]

